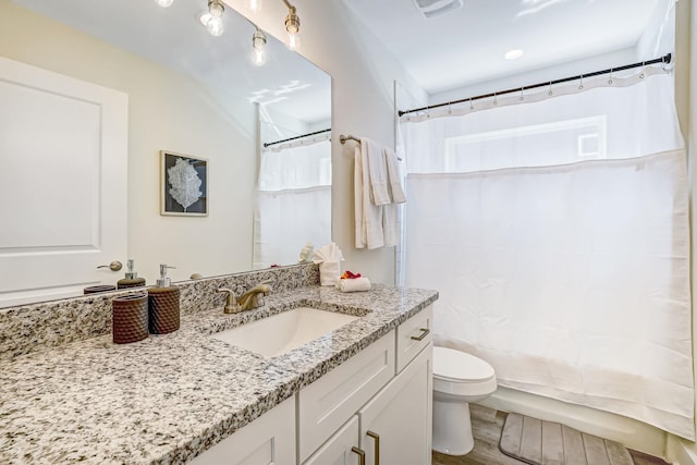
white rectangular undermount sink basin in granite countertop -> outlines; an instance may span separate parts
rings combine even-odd
[[[228,331],[218,332],[211,338],[274,357],[297,348],[360,317],[318,310],[310,307],[297,307]]]

